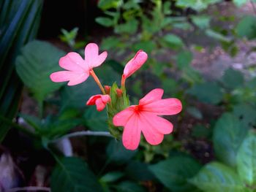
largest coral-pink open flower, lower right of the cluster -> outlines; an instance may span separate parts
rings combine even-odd
[[[138,105],[132,105],[114,116],[114,126],[124,126],[122,141],[128,150],[137,149],[141,131],[151,145],[158,145],[164,134],[173,131],[173,124],[158,115],[176,115],[181,112],[182,104],[175,98],[162,99],[163,93],[162,89],[156,88],[140,99]]]

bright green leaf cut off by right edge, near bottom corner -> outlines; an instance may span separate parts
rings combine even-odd
[[[256,184],[256,135],[250,133],[241,144],[237,155],[238,174],[246,185]]]

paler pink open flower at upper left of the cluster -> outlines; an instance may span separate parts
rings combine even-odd
[[[85,48],[85,59],[78,53],[67,53],[60,58],[59,66],[67,71],[54,72],[50,74],[53,82],[69,81],[67,85],[78,85],[89,77],[90,71],[100,66],[107,58],[108,53],[104,51],[99,55],[99,47],[95,43],[89,43]]]

